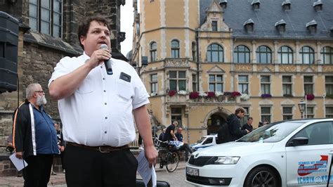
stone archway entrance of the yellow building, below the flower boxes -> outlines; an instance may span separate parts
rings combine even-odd
[[[227,117],[230,114],[231,112],[229,110],[221,107],[211,110],[204,119],[204,124],[206,124],[207,127],[207,134],[217,134],[220,125],[226,122]]]

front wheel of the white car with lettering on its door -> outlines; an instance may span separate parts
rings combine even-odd
[[[256,167],[247,174],[244,186],[280,186],[278,174],[269,167]]]

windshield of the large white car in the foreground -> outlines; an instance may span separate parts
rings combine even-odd
[[[243,136],[238,142],[278,142],[300,127],[306,121],[289,121],[266,124]]]

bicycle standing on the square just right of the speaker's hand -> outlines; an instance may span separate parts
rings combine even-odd
[[[166,166],[168,172],[174,172],[179,164],[179,153],[174,144],[169,141],[160,141],[155,138],[155,146],[157,146],[157,152],[159,157],[159,168]],[[156,145],[157,144],[157,145]]]

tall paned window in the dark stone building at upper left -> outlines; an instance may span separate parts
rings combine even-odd
[[[29,26],[53,37],[62,37],[63,1],[62,0],[30,0]]]

